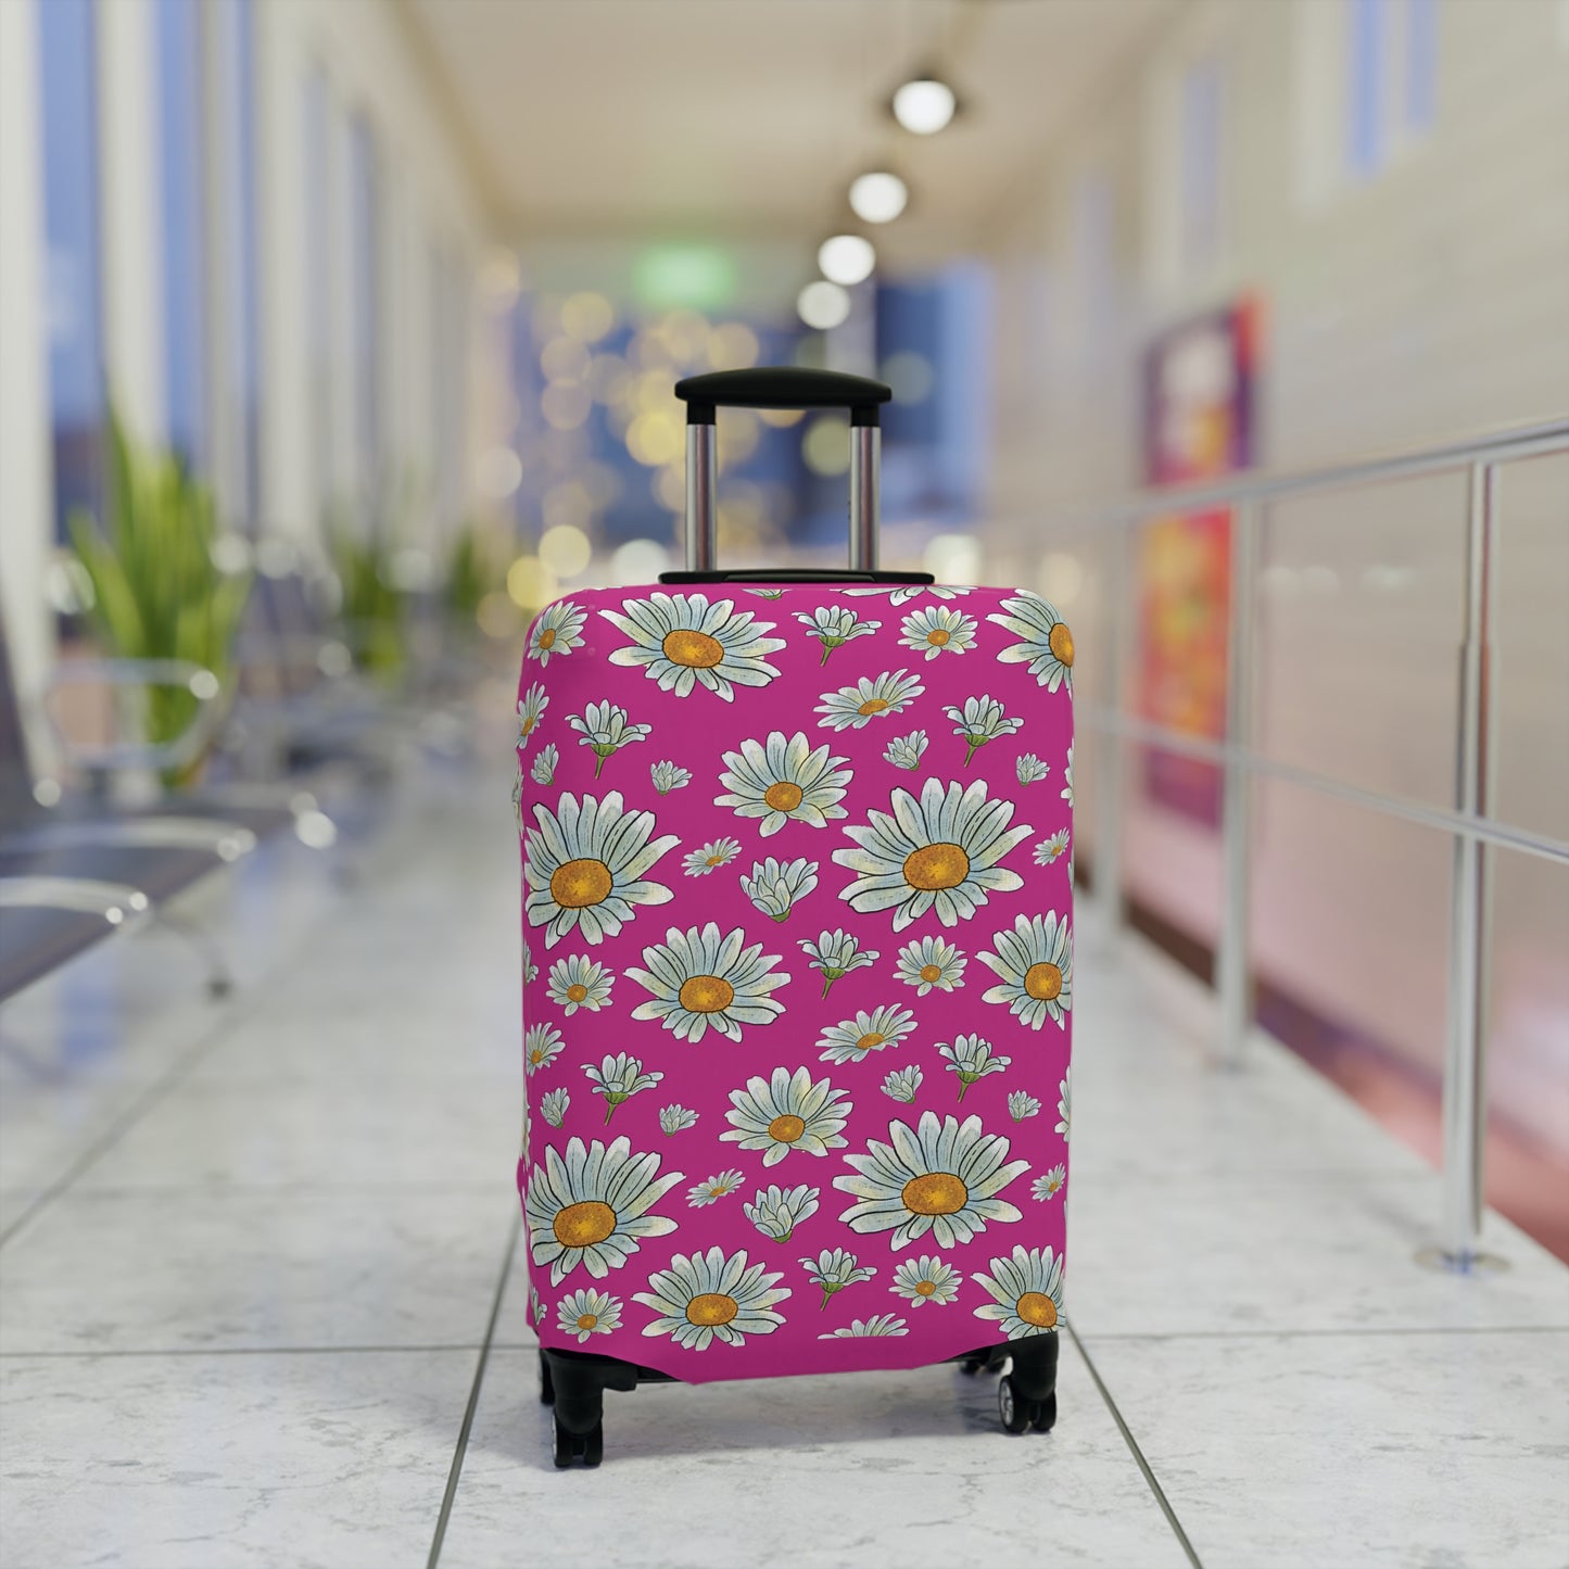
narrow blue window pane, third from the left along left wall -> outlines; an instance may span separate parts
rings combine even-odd
[[[256,47],[251,0],[221,0],[210,13],[218,30],[220,102],[226,124],[218,190],[223,202],[224,331],[221,391],[224,417],[240,452],[240,493],[228,497],[254,527],[260,507],[260,351],[256,300]]]

